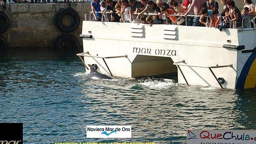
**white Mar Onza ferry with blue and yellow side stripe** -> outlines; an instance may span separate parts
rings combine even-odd
[[[245,89],[256,87],[256,30],[83,21],[88,69],[116,77],[176,73],[178,83]]]

